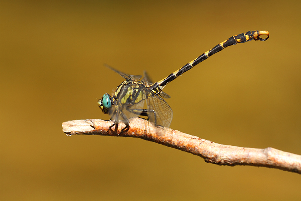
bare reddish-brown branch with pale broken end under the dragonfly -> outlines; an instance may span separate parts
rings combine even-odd
[[[208,163],[227,166],[269,167],[301,174],[300,155],[271,147],[256,149],[217,144],[177,130],[156,127],[153,123],[142,118],[130,119],[130,128],[121,134],[121,129],[125,127],[122,122],[109,129],[111,125],[111,121],[90,119],[63,122],[62,127],[68,136],[105,135],[141,138],[198,155]]]

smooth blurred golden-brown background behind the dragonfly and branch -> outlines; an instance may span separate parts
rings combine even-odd
[[[159,81],[232,35],[165,87],[170,128],[216,143],[301,154],[299,1],[2,1],[3,200],[296,200],[301,177],[205,163],[134,138],[71,136],[64,121],[109,119],[96,98],[128,74]]]

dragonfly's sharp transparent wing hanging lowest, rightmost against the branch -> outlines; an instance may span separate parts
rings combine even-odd
[[[156,125],[169,128],[173,119],[173,110],[164,99],[145,88],[146,104],[149,111],[149,121]],[[155,111],[155,113],[151,112]]]

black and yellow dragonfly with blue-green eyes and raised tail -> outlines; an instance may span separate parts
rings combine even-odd
[[[266,37],[260,37],[262,35]],[[144,71],[143,79],[140,80],[141,75],[128,75],[107,66],[125,79],[117,86],[112,95],[105,93],[97,102],[102,112],[111,116],[110,120],[113,121],[113,124],[109,127],[109,130],[118,125],[119,120],[121,120],[125,124],[125,127],[121,130],[122,133],[125,129],[129,129],[129,119],[138,116],[147,118],[157,127],[169,128],[173,119],[173,111],[163,99],[170,98],[170,96],[162,91],[168,83],[228,46],[251,40],[266,41],[268,38],[268,31],[248,31],[232,36],[155,83],[150,80],[146,71]]]

